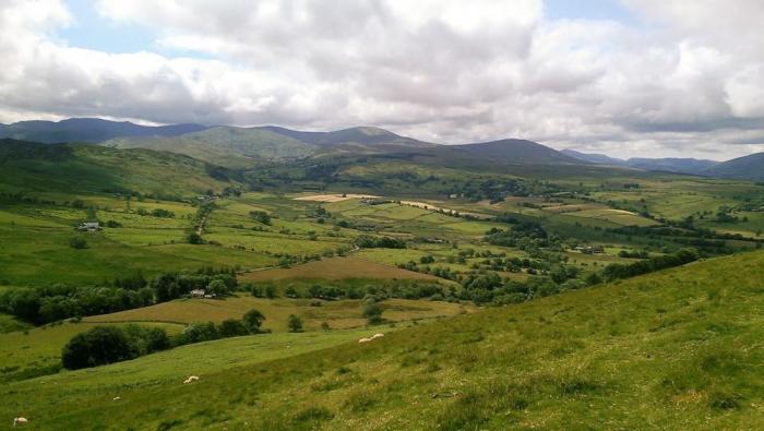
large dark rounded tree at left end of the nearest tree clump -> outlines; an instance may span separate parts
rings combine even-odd
[[[63,346],[61,363],[68,370],[77,370],[119,362],[136,356],[122,330],[116,326],[96,326],[75,335]]]

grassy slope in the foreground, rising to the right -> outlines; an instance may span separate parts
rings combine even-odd
[[[231,361],[194,385],[98,386],[157,356],[14,383],[0,388],[0,417],[69,429],[761,429],[763,307],[764,253],[747,253],[367,345]],[[187,358],[201,367],[208,348]]]

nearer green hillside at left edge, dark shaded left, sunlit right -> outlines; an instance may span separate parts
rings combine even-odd
[[[0,140],[0,191],[192,196],[232,184],[225,169],[176,154]]]

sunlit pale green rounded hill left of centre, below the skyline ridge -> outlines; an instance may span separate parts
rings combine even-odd
[[[103,145],[184,154],[216,165],[249,167],[263,160],[310,156],[312,144],[264,129],[218,127],[174,137],[121,137]]]

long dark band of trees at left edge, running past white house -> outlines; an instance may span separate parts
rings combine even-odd
[[[234,268],[167,273],[146,280],[142,274],[116,279],[110,286],[70,286],[9,289],[0,294],[0,312],[45,324],[68,318],[107,314],[147,307],[188,295],[193,289],[224,296],[236,289]]]

